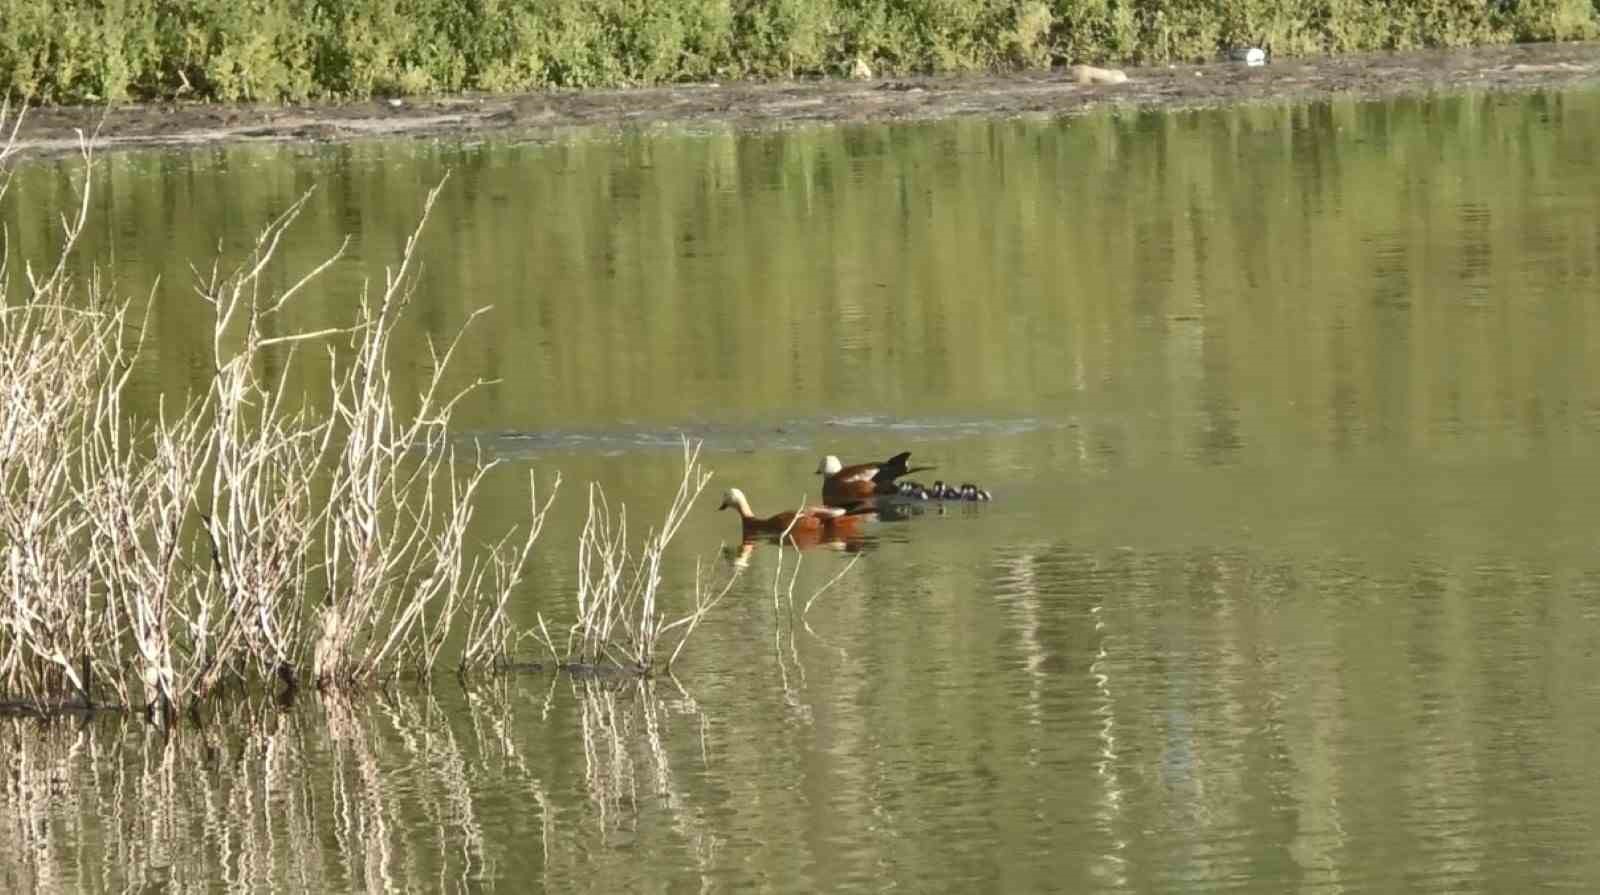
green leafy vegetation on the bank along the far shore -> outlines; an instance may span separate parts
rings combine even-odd
[[[1597,0],[0,0],[34,101],[278,101],[1565,40]]]

